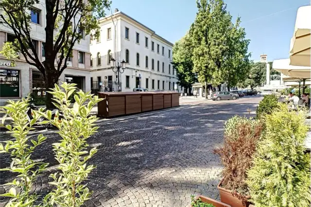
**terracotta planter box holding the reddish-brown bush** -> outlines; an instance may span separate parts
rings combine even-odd
[[[250,202],[248,202],[247,200],[250,199],[250,196],[245,196],[245,204],[243,205],[243,201],[241,199],[239,199],[238,197],[234,196],[232,194],[232,191],[224,189],[221,187],[222,181],[220,181],[220,183],[218,184],[217,188],[220,194],[220,200],[225,203],[228,204],[232,207],[249,207]]]

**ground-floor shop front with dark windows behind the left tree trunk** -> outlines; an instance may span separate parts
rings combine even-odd
[[[83,91],[90,91],[90,70],[66,68],[58,83],[72,82]],[[45,96],[45,82],[42,73],[23,61],[0,59],[0,105],[9,99],[19,100],[28,94]]]

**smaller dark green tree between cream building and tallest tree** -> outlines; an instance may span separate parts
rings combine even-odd
[[[188,91],[188,89],[191,89],[192,84],[197,81],[197,76],[193,72],[191,59],[193,47],[188,32],[174,44],[173,53],[173,68],[176,69],[177,84]]]

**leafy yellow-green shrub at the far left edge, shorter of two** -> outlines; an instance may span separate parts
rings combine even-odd
[[[38,195],[32,191],[32,186],[41,172],[43,172],[48,163],[37,162],[32,159],[32,153],[35,147],[42,144],[46,137],[40,134],[37,139],[31,139],[27,136],[32,130],[32,126],[36,123],[39,116],[34,115],[34,119],[29,123],[26,112],[28,111],[30,98],[22,98],[20,101],[9,100],[8,104],[1,107],[1,112],[5,115],[2,118],[3,126],[9,130],[9,133],[14,138],[12,141],[5,142],[3,147],[0,143],[0,153],[9,153],[12,158],[10,167],[1,168],[1,171],[10,171],[17,173],[17,178],[5,185],[11,185],[12,188],[1,196],[11,197],[7,206],[23,206],[32,207],[38,199]],[[42,110],[41,110],[42,111]],[[12,118],[11,125],[4,125],[7,116]],[[17,189],[20,189],[17,191]]]

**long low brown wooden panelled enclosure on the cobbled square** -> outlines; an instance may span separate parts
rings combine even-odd
[[[98,116],[113,117],[179,106],[175,92],[99,92]]]

